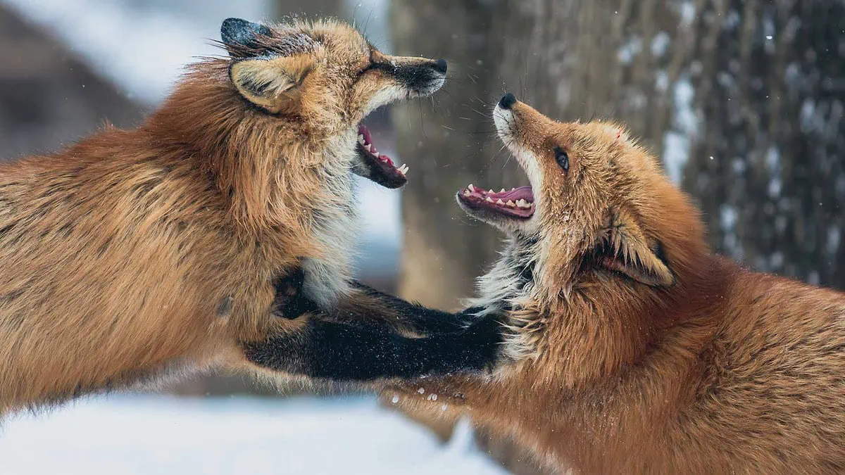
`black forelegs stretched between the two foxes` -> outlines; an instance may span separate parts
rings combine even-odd
[[[292,278],[295,281],[297,276]],[[400,328],[404,322],[430,328],[436,326],[431,320],[442,314],[468,321],[477,308],[446,314],[376,292],[364,294],[362,308],[356,308],[352,298],[341,303],[340,309],[326,311],[301,292],[291,291],[290,282],[277,290],[284,300],[278,308],[286,318],[303,312],[304,324],[265,341],[242,342],[246,358],[261,367],[312,378],[368,381],[479,372],[498,357],[504,327],[492,316],[421,338],[397,329],[397,321]]]

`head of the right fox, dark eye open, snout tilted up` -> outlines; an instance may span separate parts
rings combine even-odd
[[[534,247],[545,298],[588,281],[670,288],[703,246],[698,212],[657,160],[615,123],[560,123],[505,95],[499,138],[530,187],[464,188],[458,203]]]

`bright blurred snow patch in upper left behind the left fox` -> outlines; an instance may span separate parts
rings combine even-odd
[[[142,7],[128,0],[3,1],[48,28],[130,96],[147,103],[166,96],[185,64],[199,56],[221,54],[210,40],[219,39],[223,18],[260,19],[265,10],[260,0],[216,0],[190,12],[175,6]],[[210,18],[212,12],[220,16]]]

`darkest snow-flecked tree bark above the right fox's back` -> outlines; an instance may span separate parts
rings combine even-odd
[[[722,0],[695,20],[701,117],[684,188],[711,244],[845,289],[845,4]]]

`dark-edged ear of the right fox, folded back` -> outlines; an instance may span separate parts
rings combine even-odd
[[[611,210],[595,249],[595,262],[654,287],[675,283],[663,246],[649,239],[626,210]]]

